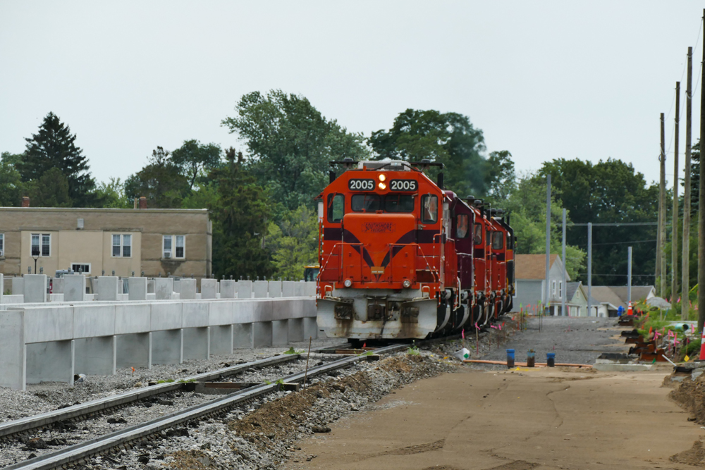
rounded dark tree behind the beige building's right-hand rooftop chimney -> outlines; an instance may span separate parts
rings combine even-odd
[[[188,181],[162,147],[152,151],[145,168],[125,180],[128,199],[146,197],[148,207],[178,208],[188,192]]]

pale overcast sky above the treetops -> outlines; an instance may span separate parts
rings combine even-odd
[[[184,140],[244,149],[220,122],[245,93],[307,97],[355,132],[407,108],[454,111],[517,169],[612,157],[658,180],[675,82],[700,75],[701,1],[0,0],[0,151],[53,111],[95,178]],[[699,137],[700,87],[693,99]]]

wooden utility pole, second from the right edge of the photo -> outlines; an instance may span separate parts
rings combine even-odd
[[[680,283],[680,319],[690,314],[690,144],[692,137],[693,48],[688,48],[688,81],[685,88],[685,194],[683,194],[683,264]]]

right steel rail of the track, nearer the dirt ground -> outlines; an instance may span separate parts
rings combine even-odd
[[[405,344],[390,345],[374,350],[374,353],[388,354],[391,352],[398,352],[404,350],[407,347],[408,345]],[[295,354],[292,355],[294,356]],[[289,376],[284,377],[283,382],[300,383],[304,380],[305,376],[319,376],[322,373],[328,373],[330,371],[334,371],[336,369],[341,369],[343,367],[355,364],[355,362],[364,361],[368,357],[369,356],[364,354],[351,355],[343,357],[342,359],[338,359],[336,361],[331,361],[327,364],[321,364],[320,366],[312,366],[307,371],[300,371],[298,373],[293,373]],[[250,363],[249,367],[252,367],[252,364],[253,363]],[[245,366],[245,364],[241,365]],[[212,374],[216,372],[218,371],[214,371],[212,372]],[[238,404],[254,400],[257,397],[273,393],[278,390],[280,390],[279,383],[258,385],[252,388],[247,388],[245,390],[232,393],[231,395],[225,395],[221,398],[217,398],[209,402],[198,404],[187,409],[179,410],[178,412],[161,416],[158,419],[154,419],[146,423],[140,423],[135,426],[130,426],[120,431],[116,431],[114,433],[102,435],[99,438],[87,440],[85,442],[75,444],[70,447],[65,447],[57,452],[44,454],[39,457],[26,460],[25,462],[18,462],[16,464],[6,466],[4,467],[4,470],[51,470],[70,466],[71,464],[85,463],[92,456],[106,454],[110,450],[116,448],[131,447],[134,443],[137,443],[140,440],[156,438],[157,435],[161,433],[161,431],[165,431],[176,426],[183,426],[185,424],[190,423],[191,421],[219,416],[221,414],[226,413],[229,409],[235,407]]]

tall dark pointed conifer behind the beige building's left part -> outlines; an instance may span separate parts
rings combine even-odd
[[[75,144],[76,135],[71,135],[71,129],[58,116],[47,114],[39,132],[25,140],[27,148],[18,164],[23,181],[39,180],[51,168],[58,168],[66,177],[68,196],[76,207],[97,204],[88,160]]]

